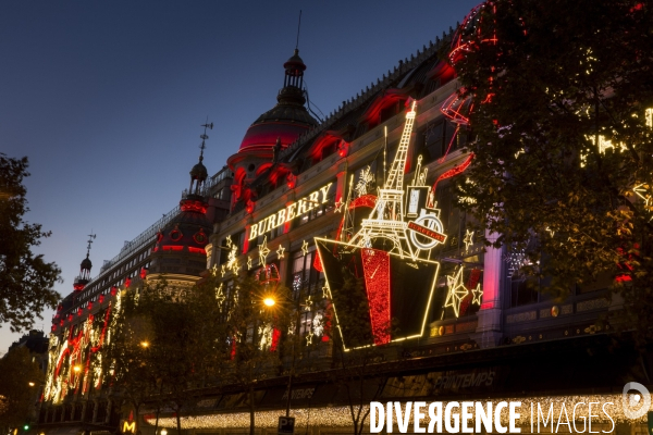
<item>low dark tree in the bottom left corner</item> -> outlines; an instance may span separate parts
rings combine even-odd
[[[0,359],[0,428],[4,433],[28,423],[42,380],[25,347],[11,349]]]

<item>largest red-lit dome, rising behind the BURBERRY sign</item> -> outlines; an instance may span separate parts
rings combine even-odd
[[[249,184],[274,163],[280,151],[318,125],[305,107],[306,64],[299,57],[298,49],[295,49],[283,67],[283,88],[276,96],[276,105],[261,114],[247,128],[238,152],[227,159],[227,164],[234,172],[234,201],[256,200]]]

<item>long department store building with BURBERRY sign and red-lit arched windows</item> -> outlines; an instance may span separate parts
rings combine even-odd
[[[483,247],[457,207],[466,198],[456,198],[451,183],[465,176],[472,137],[468,103],[458,101],[454,71],[438,55],[452,40],[455,47],[453,35],[423,47],[322,121],[305,108],[306,65],[296,50],[278,104],[251,124],[227,167],[209,178],[200,157],[180,209],[97,278],[88,281],[90,265],[86,273],[83,264],[87,282],[54,319],[41,421],[116,427],[108,398],[93,393],[102,374],[83,349],[101,346],[107,313],[140,271],[188,286],[209,270],[230,295],[235,274],[273,270],[291,289],[303,344],[289,402],[298,426],[312,434],[348,433],[352,423],[338,380],[355,369],[338,371],[334,346],[352,356],[364,346],[380,350],[358,376],[361,402],[559,398],[559,408],[574,396],[617,401],[626,382],[650,383],[653,360],[627,346],[614,351],[612,326],[597,326],[619,309],[619,300],[605,298],[608,282],[556,302],[539,291],[545,283],[520,275],[522,252]],[[337,318],[352,302],[347,274],[364,283],[371,341]],[[275,432],[289,373],[286,361],[257,383],[260,433]],[[249,425],[244,395],[236,387],[198,391],[184,428],[238,433]],[[139,419],[152,433],[151,409]],[[174,427],[172,411],[158,424]],[[605,419],[596,424],[609,430]]]

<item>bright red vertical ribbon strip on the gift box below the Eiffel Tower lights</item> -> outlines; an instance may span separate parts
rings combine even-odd
[[[362,249],[362,270],[374,345],[390,343],[390,253]]]

